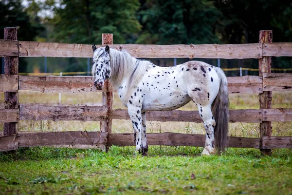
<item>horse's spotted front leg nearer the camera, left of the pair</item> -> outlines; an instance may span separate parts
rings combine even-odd
[[[128,113],[133,124],[136,151],[143,153],[141,108],[138,108],[132,104],[128,105]]]

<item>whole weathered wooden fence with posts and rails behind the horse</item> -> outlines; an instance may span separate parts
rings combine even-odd
[[[260,109],[230,110],[230,122],[260,123],[260,137],[229,137],[229,147],[257,148],[270,154],[273,148],[292,148],[292,137],[271,137],[271,121],[292,121],[292,109],[271,109],[271,91],[292,91],[292,74],[271,73],[271,57],[292,56],[292,43],[272,43],[272,31],[260,31],[259,43],[203,45],[112,45],[112,34],[103,34],[102,45],[127,49],[136,58],[221,58],[259,59],[259,76],[228,77],[230,94],[259,94]],[[4,132],[0,151],[18,147],[62,146],[99,147],[133,146],[133,134],[111,133],[112,119],[129,119],[127,110],[112,109],[115,92],[106,82],[96,90],[91,77],[20,76],[18,57],[92,57],[91,45],[18,41],[16,28],[5,28],[0,39],[0,55],[5,58],[5,75],[0,75],[0,122]],[[18,90],[58,93],[101,92],[97,104],[18,103]],[[198,111],[150,111],[147,120],[202,122]],[[19,120],[81,120],[101,121],[100,132],[18,132]],[[148,134],[149,145],[204,146],[204,135],[160,133]]]

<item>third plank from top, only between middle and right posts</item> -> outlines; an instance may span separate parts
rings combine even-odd
[[[230,122],[261,122],[261,110],[230,110]],[[128,110],[115,109],[109,111],[109,118],[111,119],[130,119]],[[202,122],[198,111],[148,111],[146,112],[146,120],[155,121],[185,121],[185,122]]]

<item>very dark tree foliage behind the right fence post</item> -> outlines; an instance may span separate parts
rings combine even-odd
[[[218,0],[216,7],[222,12],[218,32],[222,43],[255,43],[260,30],[273,30],[273,42],[292,41],[292,3],[286,0]],[[257,60],[238,61],[238,66],[256,68]],[[272,58],[273,67],[291,67],[292,60]],[[229,67],[234,67],[229,64]]]

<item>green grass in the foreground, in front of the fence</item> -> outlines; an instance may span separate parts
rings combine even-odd
[[[292,150],[260,156],[228,149],[201,156],[198,147],[98,150],[23,148],[0,153],[2,194],[292,194]],[[1,194],[0,193],[0,194]]]

